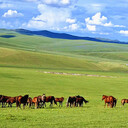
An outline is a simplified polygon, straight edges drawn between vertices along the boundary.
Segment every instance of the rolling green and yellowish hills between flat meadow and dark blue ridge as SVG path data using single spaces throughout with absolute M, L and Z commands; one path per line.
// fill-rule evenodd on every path
M 57 39 L 22 31 L 26 33 L 0 30 L 0 66 L 128 71 L 127 44 Z

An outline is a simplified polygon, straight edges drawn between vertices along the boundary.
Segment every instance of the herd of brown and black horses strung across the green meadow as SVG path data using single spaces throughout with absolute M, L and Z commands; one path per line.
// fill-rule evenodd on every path
M 117 99 L 113 96 L 102 96 L 102 100 L 104 100 L 105 105 L 104 107 L 116 107 Z M 62 107 L 62 103 L 64 101 L 64 97 L 55 98 L 54 96 L 46 96 L 45 94 L 34 97 L 33 99 L 29 97 L 29 95 L 24 96 L 16 96 L 16 97 L 10 97 L 5 95 L 0 95 L 0 104 L 2 104 L 2 107 L 6 107 L 8 104 L 8 107 L 12 107 L 13 103 L 16 103 L 16 107 L 21 108 L 21 104 L 23 104 L 23 109 L 26 105 L 29 105 L 29 107 L 35 107 L 36 108 L 44 108 L 46 107 L 46 103 L 50 103 L 50 107 L 53 106 L 53 103 L 57 105 L 57 102 L 59 103 L 59 107 Z M 81 107 L 83 106 L 83 103 L 88 103 L 89 101 L 85 100 L 82 96 L 69 96 L 66 101 L 67 107 Z M 128 99 L 122 99 L 121 104 L 124 105 L 125 103 L 128 103 Z

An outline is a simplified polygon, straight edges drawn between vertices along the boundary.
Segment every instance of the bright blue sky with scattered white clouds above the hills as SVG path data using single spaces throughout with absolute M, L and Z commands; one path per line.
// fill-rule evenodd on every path
M 0 28 L 128 42 L 128 0 L 0 0 Z

